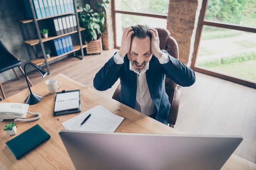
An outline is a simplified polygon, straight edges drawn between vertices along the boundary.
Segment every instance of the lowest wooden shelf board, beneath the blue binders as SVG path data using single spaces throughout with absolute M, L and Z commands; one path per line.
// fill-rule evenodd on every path
M 88 45 L 83 44 L 83 49 L 86 48 L 87 46 Z M 79 50 L 81 50 L 81 46 L 79 44 L 73 45 L 73 50 L 72 51 L 69 51 L 67 53 L 64 53 L 64 54 L 61 54 L 61 55 L 58 55 L 58 56 L 51 56 L 51 57 L 47 58 L 47 62 L 50 62 L 50 61 L 55 60 L 59 57 L 62 57 L 64 55 L 67 55 L 67 54 L 70 54 L 70 53 L 73 53 L 73 52 L 79 51 Z M 40 66 L 40 65 L 45 63 L 45 58 L 36 58 L 34 60 L 30 60 L 29 62 L 31 62 L 33 64 L 36 64 L 36 66 Z

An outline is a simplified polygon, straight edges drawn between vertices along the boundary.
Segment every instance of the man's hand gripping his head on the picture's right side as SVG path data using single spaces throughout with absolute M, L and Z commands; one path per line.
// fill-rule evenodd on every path
M 151 45 L 150 45 L 151 53 L 153 53 L 153 55 L 155 55 L 155 57 L 157 57 L 157 59 L 159 60 L 161 58 L 163 52 L 161 51 L 161 49 L 159 47 L 160 41 L 159 41 L 158 32 L 156 29 L 153 29 L 153 28 L 150 28 L 149 32 L 152 35 Z

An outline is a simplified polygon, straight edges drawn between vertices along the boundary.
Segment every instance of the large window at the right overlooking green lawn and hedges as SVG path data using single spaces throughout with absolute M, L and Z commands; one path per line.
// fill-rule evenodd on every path
M 203 2 L 192 68 L 256 88 L 256 1 Z

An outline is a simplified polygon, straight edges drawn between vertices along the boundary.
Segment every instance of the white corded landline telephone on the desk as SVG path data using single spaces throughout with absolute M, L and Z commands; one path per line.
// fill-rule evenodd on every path
M 28 111 L 29 104 L 23 103 L 0 103 L 0 121 L 4 119 L 14 119 L 14 121 L 35 121 L 41 117 L 40 113 L 31 113 Z M 27 113 L 38 115 L 33 119 L 25 119 Z

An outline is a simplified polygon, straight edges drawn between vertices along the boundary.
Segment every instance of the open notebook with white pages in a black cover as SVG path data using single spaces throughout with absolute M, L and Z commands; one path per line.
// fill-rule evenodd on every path
M 54 116 L 81 111 L 80 90 L 56 93 Z

